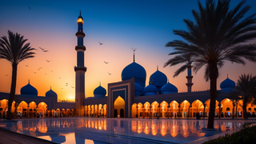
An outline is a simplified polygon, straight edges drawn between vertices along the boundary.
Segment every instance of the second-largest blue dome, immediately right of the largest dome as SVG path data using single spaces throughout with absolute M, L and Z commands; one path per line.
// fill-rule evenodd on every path
M 164 86 L 167 82 L 166 74 L 163 74 L 161 71 L 157 70 L 150 76 L 150 85 L 154 86 Z

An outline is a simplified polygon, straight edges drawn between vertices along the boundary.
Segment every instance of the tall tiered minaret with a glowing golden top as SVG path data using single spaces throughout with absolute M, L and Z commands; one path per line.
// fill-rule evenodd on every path
M 86 46 L 83 46 L 83 38 L 86 34 L 82 31 L 83 19 L 80 15 L 78 17 L 78 32 L 75 34 L 78 37 L 78 46 L 75 46 L 77 51 L 77 66 L 74 66 L 75 71 L 75 116 L 83 116 L 83 100 L 85 99 L 85 73 L 84 66 L 84 51 Z

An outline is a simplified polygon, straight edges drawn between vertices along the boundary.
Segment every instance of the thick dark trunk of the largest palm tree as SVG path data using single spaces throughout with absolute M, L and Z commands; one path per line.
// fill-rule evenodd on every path
M 214 128 L 214 112 L 216 106 L 217 97 L 217 78 L 218 78 L 218 67 L 214 62 L 209 63 L 210 70 L 210 112 L 208 118 L 207 129 Z

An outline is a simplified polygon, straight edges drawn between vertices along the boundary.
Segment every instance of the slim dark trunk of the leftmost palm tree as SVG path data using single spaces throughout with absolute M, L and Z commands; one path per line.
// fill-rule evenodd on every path
M 11 106 L 14 101 L 15 96 L 15 90 L 16 90 L 16 81 L 17 81 L 17 65 L 16 63 L 13 63 L 13 71 L 12 71 L 12 77 L 11 77 L 11 86 L 10 86 L 10 96 L 8 101 L 8 111 L 7 111 L 7 120 L 11 120 Z

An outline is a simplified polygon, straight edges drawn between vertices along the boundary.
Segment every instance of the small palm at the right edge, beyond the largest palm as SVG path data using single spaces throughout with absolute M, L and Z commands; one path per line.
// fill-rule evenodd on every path
M 242 110 L 245 119 L 248 119 L 246 106 L 247 103 L 254 102 L 256 95 L 256 76 L 252 77 L 250 74 L 242 74 L 235 86 L 234 90 L 230 93 L 230 98 L 237 101 L 242 99 Z

